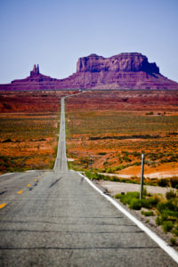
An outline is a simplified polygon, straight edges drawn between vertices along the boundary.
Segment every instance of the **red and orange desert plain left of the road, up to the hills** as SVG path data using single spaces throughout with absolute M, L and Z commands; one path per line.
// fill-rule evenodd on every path
M 64 94 L 0 93 L 0 173 L 53 167 Z

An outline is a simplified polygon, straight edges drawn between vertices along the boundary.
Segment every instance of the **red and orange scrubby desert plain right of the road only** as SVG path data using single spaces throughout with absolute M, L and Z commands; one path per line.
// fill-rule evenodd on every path
M 178 93 L 95 91 L 69 98 L 68 157 L 76 169 L 167 177 L 178 171 Z

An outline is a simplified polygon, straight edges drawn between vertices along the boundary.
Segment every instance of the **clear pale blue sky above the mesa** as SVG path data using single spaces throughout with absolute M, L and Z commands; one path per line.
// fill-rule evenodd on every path
M 138 52 L 178 82 L 178 0 L 0 0 L 0 84 L 76 72 L 79 57 Z

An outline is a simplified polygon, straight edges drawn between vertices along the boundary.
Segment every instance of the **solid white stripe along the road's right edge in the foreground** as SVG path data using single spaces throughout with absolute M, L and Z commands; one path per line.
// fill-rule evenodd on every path
M 125 210 L 125 208 L 123 206 L 120 206 L 116 200 L 114 200 L 113 198 L 105 195 L 99 188 L 97 188 L 93 182 L 91 182 L 87 177 L 85 177 L 85 175 L 80 174 L 79 172 L 77 172 L 80 176 L 85 178 L 85 181 L 88 182 L 93 189 L 97 190 L 101 196 L 103 196 L 104 198 L 107 198 L 114 206 L 117 207 L 118 210 L 120 210 L 123 214 L 125 214 L 132 222 L 134 222 L 142 231 L 144 231 L 149 237 L 150 239 L 153 239 L 159 247 L 161 247 L 162 249 L 164 249 L 166 251 L 166 254 L 170 255 L 174 261 L 176 263 L 178 263 L 178 253 L 176 252 L 176 250 L 174 250 L 173 247 L 170 247 L 166 241 L 164 241 L 163 239 L 159 238 L 158 235 L 156 233 L 154 233 L 153 231 L 151 231 L 147 226 L 145 226 L 143 223 L 141 223 L 139 220 L 137 220 L 132 214 L 130 214 L 129 212 L 127 212 Z

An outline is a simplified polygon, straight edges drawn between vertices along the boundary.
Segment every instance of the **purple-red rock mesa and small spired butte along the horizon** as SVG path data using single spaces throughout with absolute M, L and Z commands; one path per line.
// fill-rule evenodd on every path
M 1 91 L 62 89 L 178 90 L 178 83 L 161 75 L 157 64 L 142 53 L 120 53 L 109 58 L 97 54 L 79 58 L 77 72 L 64 79 L 44 76 L 34 65 L 29 77 L 0 85 Z

